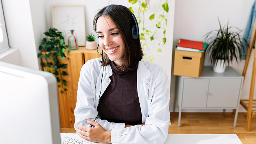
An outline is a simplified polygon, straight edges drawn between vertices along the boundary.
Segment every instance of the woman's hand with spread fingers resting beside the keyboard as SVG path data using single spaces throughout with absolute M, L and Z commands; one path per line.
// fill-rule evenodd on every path
M 87 123 L 95 126 L 94 128 L 88 128 L 81 125 L 77 125 L 76 130 L 79 132 L 79 136 L 85 140 L 99 143 L 111 143 L 111 131 L 106 131 L 99 123 L 94 121 L 86 121 Z

